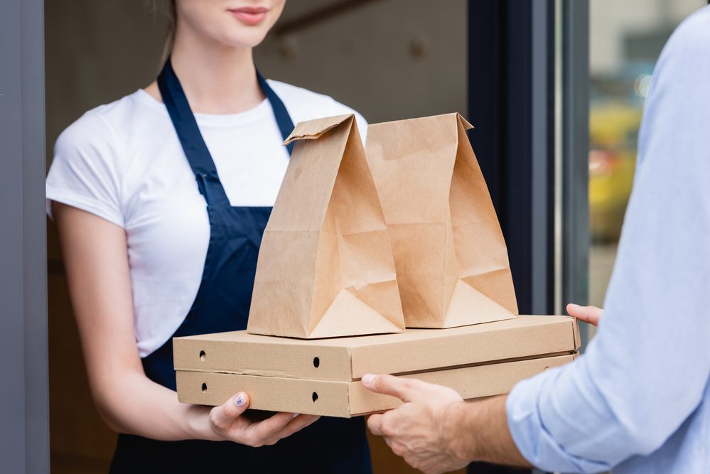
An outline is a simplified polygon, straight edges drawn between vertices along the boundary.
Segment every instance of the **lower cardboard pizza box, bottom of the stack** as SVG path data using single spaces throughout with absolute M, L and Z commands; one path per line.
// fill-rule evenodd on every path
M 574 360 L 575 355 L 503 362 L 422 372 L 404 377 L 444 384 L 464 399 L 504 394 L 522 379 Z M 401 402 L 369 392 L 362 383 L 258 377 L 217 372 L 177 372 L 178 399 L 183 403 L 220 405 L 236 392 L 249 394 L 249 408 L 322 416 L 349 417 L 392 409 Z

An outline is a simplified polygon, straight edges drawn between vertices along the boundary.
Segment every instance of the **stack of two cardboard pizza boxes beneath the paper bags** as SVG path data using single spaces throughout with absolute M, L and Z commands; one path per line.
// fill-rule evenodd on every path
M 579 333 L 573 318 L 520 316 L 319 340 L 236 331 L 176 338 L 173 347 L 181 402 L 219 405 L 244 391 L 252 409 L 349 417 L 401 403 L 365 389 L 367 373 L 443 384 L 464 399 L 490 397 L 574 360 Z

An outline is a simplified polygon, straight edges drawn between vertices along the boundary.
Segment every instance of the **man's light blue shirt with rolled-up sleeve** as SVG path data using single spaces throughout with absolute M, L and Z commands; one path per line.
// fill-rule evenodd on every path
M 512 437 L 549 471 L 710 473 L 710 7 L 652 78 L 598 333 L 517 384 Z

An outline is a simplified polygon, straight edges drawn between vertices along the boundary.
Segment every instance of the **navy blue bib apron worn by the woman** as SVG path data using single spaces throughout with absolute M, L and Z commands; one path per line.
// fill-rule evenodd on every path
M 294 129 L 284 103 L 261 75 L 281 135 Z M 195 116 L 168 59 L 158 76 L 163 102 L 195 173 L 210 218 L 210 244 L 200 289 L 173 337 L 247 327 L 257 253 L 270 207 L 230 205 Z M 289 149 L 290 153 L 291 149 Z M 144 357 L 146 375 L 175 389 L 173 344 Z M 370 451 L 362 418 L 322 418 L 274 446 L 250 448 L 230 441 L 155 441 L 119 435 L 111 473 L 370 473 Z

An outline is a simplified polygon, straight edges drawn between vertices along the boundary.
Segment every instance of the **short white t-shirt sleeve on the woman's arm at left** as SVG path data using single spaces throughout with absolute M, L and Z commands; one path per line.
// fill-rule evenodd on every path
M 87 112 L 63 131 L 46 181 L 50 217 L 57 201 L 124 227 L 116 145 L 97 112 Z

